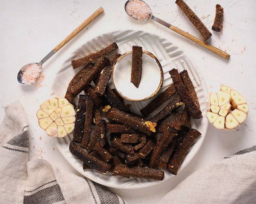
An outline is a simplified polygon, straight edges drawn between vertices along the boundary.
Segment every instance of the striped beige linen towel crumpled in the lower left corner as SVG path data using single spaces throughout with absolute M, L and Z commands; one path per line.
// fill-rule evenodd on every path
M 125 204 L 107 187 L 46 160 L 27 162 L 29 131 L 23 107 L 14 102 L 5 112 L 0 125 L 0 204 Z

